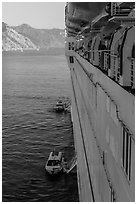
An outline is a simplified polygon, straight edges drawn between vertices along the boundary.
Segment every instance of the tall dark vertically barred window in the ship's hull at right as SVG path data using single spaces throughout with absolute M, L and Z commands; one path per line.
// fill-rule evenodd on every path
M 131 148 L 132 138 L 128 129 L 123 126 L 123 152 L 122 152 L 122 167 L 128 180 L 131 180 Z

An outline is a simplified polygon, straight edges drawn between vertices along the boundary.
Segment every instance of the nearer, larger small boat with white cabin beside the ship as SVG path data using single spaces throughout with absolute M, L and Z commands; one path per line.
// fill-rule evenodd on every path
M 56 175 L 64 169 L 64 157 L 62 152 L 53 151 L 45 165 L 46 171 L 51 175 Z

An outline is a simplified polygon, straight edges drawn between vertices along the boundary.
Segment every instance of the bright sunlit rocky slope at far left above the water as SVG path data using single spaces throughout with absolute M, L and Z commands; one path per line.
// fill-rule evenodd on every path
M 19 34 L 12 27 L 2 23 L 2 50 L 38 50 L 38 47 L 28 37 Z

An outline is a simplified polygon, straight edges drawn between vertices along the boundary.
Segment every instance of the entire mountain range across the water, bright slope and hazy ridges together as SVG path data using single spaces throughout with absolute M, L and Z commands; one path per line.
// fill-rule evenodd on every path
M 2 50 L 39 50 L 64 48 L 63 29 L 36 29 L 27 24 L 11 27 L 2 23 Z

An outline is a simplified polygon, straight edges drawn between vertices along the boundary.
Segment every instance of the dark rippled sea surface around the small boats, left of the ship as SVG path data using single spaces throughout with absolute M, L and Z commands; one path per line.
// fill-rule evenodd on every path
M 65 56 L 3 55 L 2 201 L 78 201 L 76 173 L 50 178 L 44 165 L 54 148 L 74 155 L 70 113 L 53 111 L 69 101 Z

